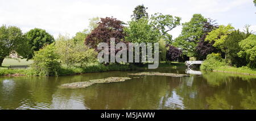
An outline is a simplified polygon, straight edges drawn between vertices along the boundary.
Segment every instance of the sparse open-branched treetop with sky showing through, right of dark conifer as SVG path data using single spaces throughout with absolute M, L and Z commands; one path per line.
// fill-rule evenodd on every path
M 161 36 L 171 43 L 172 36 L 168 34 L 169 31 L 177 26 L 180 26 L 180 17 L 172 15 L 163 15 L 161 13 L 156 13 L 151 16 L 151 24 L 156 30 L 159 30 Z

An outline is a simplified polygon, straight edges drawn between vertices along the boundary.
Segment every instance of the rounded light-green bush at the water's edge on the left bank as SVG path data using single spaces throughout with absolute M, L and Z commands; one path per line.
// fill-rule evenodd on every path
M 35 52 L 32 69 L 36 76 L 58 76 L 60 68 L 59 54 L 56 53 L 54 44 L 46 45 L 40 51 Z

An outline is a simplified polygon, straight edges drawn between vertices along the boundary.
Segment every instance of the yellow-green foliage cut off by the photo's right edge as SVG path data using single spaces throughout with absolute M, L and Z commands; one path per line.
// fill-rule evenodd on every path
M 245 57 L 250 68 L 256 68 L 256 35 L 250 35 L 240 41 L 239 46 L 241 51 L 238 56 Z

